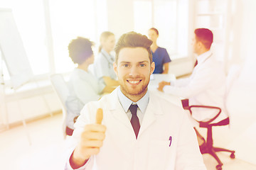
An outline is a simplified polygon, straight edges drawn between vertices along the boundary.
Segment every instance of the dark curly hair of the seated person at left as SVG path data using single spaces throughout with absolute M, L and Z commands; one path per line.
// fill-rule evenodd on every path
M 68 45 L 68 52 L 71 60 L 76 64 L 82 64 L 93 55 L 92 45 L 94 42 L 90 41 L 87 38 L 78 37 L 74 40 L 71 40 Z

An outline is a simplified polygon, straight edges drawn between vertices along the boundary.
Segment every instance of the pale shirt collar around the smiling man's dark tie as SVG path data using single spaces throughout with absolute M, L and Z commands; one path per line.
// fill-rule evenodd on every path
M 137 104 L 137 106 L 139 107 L 139 110 L 142 111 L 142 113 L 145 113 L 146 107 L 149 103 L 149 91 L 146 91 L 146 94 L 141 99 L 139 99 L 139 101 L 137 101 L 136 103 L 131 101 L 129 98 L 127 98 L 127 96 L 124 96 L 124 94 L 120 90 L 120 86 L 117 89 L 117 96 L 119 98 L 119 102 L 122 105 L 122 108 L 126 113 L 129 109 L 129 106 L 131 106 L 131 104 Z

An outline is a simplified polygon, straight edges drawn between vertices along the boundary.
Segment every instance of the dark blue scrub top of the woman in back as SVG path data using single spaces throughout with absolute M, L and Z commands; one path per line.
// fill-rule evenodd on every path
M 152 51 L 151 51 L 152 52 Z M 164 63 L 171 62 L 168 52 L 165 48 L 158 47 L 155 52 L 152 52 L 153 62 L 155 63 L 155 70 L 153 74 L 161 74 L 164 72 Z

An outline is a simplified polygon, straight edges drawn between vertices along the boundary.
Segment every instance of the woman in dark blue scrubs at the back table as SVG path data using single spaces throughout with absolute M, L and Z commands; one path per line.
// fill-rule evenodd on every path
M 158 37 L 159 31 L 156 30 L 156 28 L 150 28 L 149 39 L 153 41 L 150 48 L 153 55 L 153 62 L 156 65 L 156 69 L 154 70 L 153 74 L 168 74 L 169 62 L 171 62 L 171 59 L 166 49 L 163 47 L 159 47 L 156 44 L 156 40 Z

